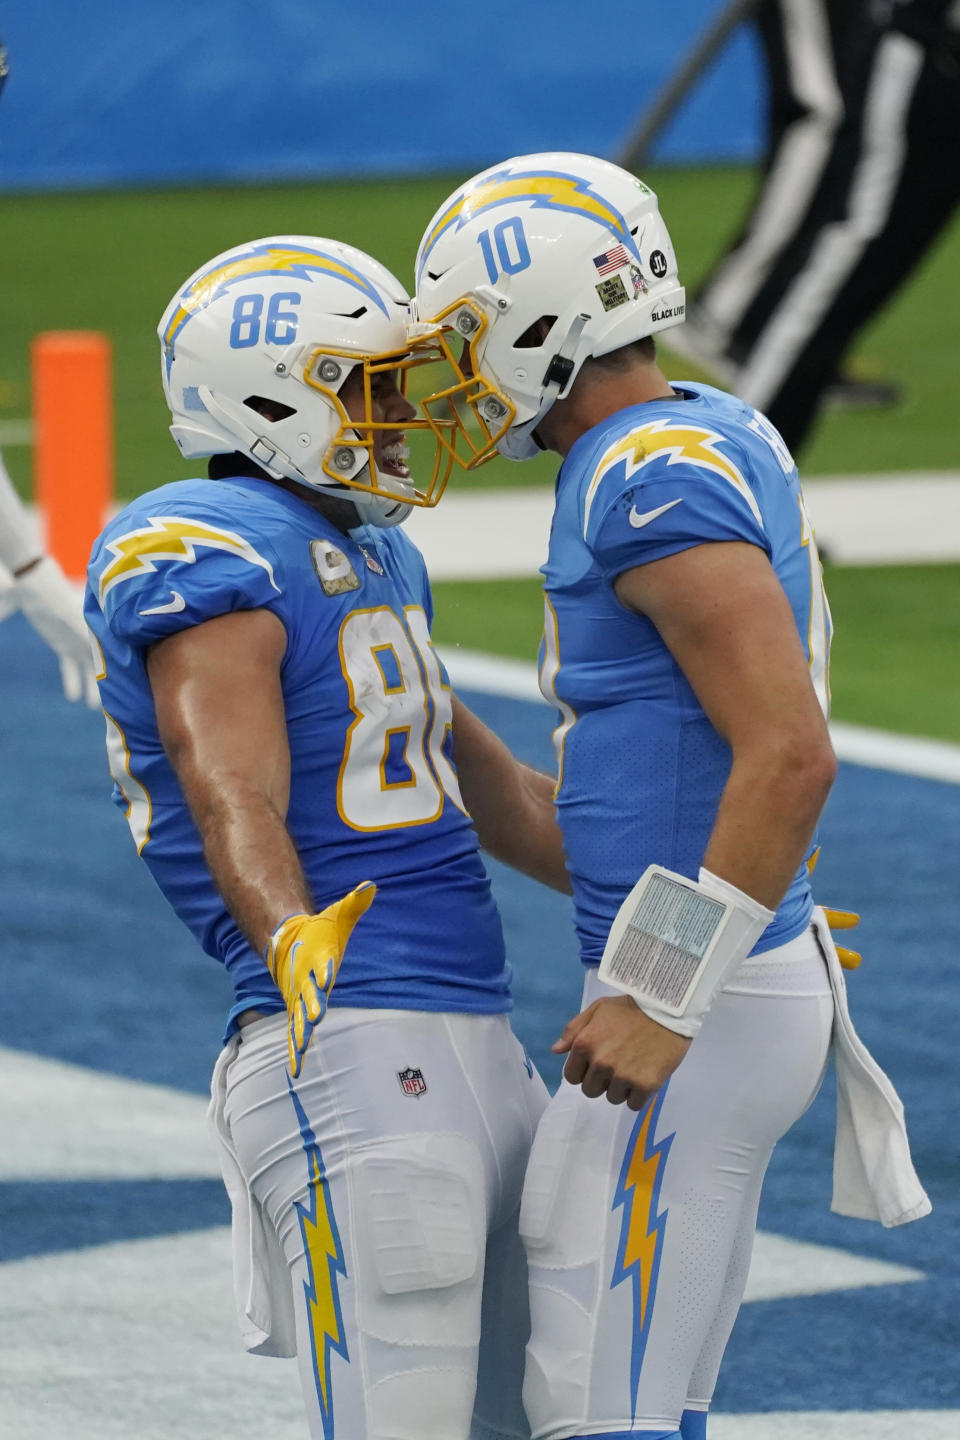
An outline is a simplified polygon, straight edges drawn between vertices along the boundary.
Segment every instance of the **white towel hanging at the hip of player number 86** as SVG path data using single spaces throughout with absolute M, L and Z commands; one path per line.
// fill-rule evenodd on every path
M 285 1015 L 282 1020 L 286 1024 Z M 256 1355 L 289 1358 L 296 1355 L 289 1270 L 273 1225 L 250 1194 L 225 1116 L 227 1070 L 239 1048 L 240 1035 L 236 1034 L 220 1051 L 213 1067 L 207 1110 L 233 1214 L 233 1293 L 243 1348 Z

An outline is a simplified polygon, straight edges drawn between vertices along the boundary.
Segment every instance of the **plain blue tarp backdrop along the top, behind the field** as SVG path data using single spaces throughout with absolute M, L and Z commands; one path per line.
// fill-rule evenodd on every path
M 269 181 L 615 157 L 724 0 L 13 0 L 0 189 Z M 753 158 L 741 29 L 659 161 Z

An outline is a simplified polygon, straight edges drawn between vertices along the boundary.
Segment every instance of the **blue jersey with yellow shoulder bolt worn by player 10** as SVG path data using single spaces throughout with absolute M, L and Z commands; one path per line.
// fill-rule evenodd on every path
M 760 546 L 783 586 L 828 710 L 830 613 L 796 465 L 748 405 L 705 384 L 620 410 L 581 435 L 557 478 L 540 684 L 558 707 L 557 808 L 581 956 L 649 864 L 695 878 L 731 765 L 656 628 L 613 593 L 625 570 L 717 540 Z M 757 950 L 799 935 L 802 867 Z

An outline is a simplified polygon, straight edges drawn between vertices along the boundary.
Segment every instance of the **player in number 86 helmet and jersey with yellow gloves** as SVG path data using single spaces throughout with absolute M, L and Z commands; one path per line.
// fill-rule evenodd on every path
M 545 1092 L 478 834 L 567 878 L 551 780 L 430 642 L 402 521 L 449 467 L 423 488 L 407 467 L 407 320 L 335 240 L 203 265 L 160 340 L 209 478 L 127 505 L 86 593 L 117 804 L 233 982 L 212 1116 L 243 1339 L 298 1355 L 324 1440 L 528 1433 L 518 1205 Z

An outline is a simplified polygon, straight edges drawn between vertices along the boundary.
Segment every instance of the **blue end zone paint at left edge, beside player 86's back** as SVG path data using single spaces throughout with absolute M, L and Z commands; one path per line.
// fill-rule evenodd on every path
M 109 798 L 104 717 L 63 700 L 19 615 L 0 625 L 0 1044 L 204 1093 L 226 976 L 137 858 Z

